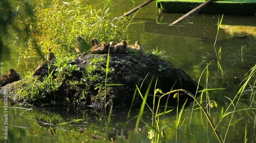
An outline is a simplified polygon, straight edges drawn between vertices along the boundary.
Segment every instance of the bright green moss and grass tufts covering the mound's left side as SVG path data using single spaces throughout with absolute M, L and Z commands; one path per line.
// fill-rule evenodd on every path
M 24 86 L 16 94 L 18 101 L 24 101 L 25 103 L 33 103 L 34 101 L 50 102 L 51 99 L 55 99 L 56 95 L 59 95 L 58 92 L 62 88 L 67 89 L 70 95 L 66 98 L 59 98 L 62 98 L 63 101 L 66 100 L 68 103 L 71 100 L 70 98 L 80 104 L 80 102 L 86 102 L 89 95 L 104 93 L 106 59 L 103 56 L 91 59 L 85 70 L 79 70 L 76 65 L 71 65 L 68 61 L 70 61 L 70 58 L 57 58 L 54 63 L 55 70 L 41 80 L 27 76 L 26 82 L 22 83 Z M 81 72 L 82 75 L 80 75 Z M 79 79 L 77 80 L 77 78 Z M 111 80 L 111 78 L 108 78 L 108 80 Z

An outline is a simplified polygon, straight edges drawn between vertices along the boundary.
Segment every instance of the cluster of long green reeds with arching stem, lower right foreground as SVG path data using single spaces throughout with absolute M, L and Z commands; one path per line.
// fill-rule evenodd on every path
M 207 72 L 207 78 L 208 78 L 208 68 L 205 68 L 205 70 Z M 181 94 L 179 95 L 179 92 L 185 92 L 187 95 L 189 95 L 190 97 L 194 98 L 195 103 L 194 106 L 197 108 L 193 108 L 191 109 L 191 111 L 193 113 L 191 113 L 191 117 L 190 117 L 190 122 L 188 126 L 191 125 L 192 120 L 195 122 L 197 122 L 198 120 L 200 120 L 200 118 L 195 119 L 195 113 L 196 110 L 201 110 L 201 124 L 202 127 L 205 129 L 205 132 L 207 132 L 208 142 L 214 141 L 214 134 L 215 136 L 218 138 L 218 142 L 226 142 L 228 141 L 227 138 L 229 138 L 230 136 L 230 127 L 237 127 L 238 123 L 243 123 L 244 119 L 250 119 L 252 122 L 255 122 L 255 85 L 256 85 L 256 80 L 255 80 L 255 73 L 256 73 L 256 65 L 247 73 L 245 80 L 243 81 L 243 85 L 241 87 L 241 89 L 238 91 L 236 97 L 234 97 L 233 99 L 230 99 L 228 97 L 226 97 L 227 99 L 229 99 L 231 102 L 228 104 L 228 106 L 225 107 L 221 107 L 221 111 L 218 112 L 218 116 L 219 116 L 219 120 L 212 116 L 211 113 L 211 108 L 217 107 L 217 103 L 214 100 L 210 100 L 210 96 L 209 96 L 209 92 L 210 91 L 216 91 L 216 90 L 223 90 L 223 89 L 204 89 L 201 94 L 201 100 L 198 100 L 197 98 L 195 98 L 194 95 L 192 95 L 191 93 L 182 90 L 182 89 L 178 89 L 178 90 L 172 90 L 168 93 L 163 94 L 161 92 L 161 90 L 156 89 L 154 97 L 156 97 L 156 93 L 161 93 L 161 97 L 163 96 L 169 96 L 170 93 L 176 93 L 174 95 L 174 98 L 178 98 L 179 100 L 179 96 L 182 96 Z M 207 81 L 206 81 L 207 82 Z M 251 83 L 252 82 L 252 83 Z M 151 84 L 150 84 L 151 85 Z M 249 89 L 248 89 L 249 88 Z M 149 110 L 152 112 L 153 116 L 152 116 L 152 124 L 148 125 L 147 123 L 145 123 L 146 127 L 148 128 L 148 130 L 150 130 L 148 132 L 148 139 L 151 139 L 152 142 L 168 142 L 167 139 L 169 138 L 175 138 L 176 137 L 176 142 L 179 141 L 178 139 L 178 135 L 186 135 L 185 132 L 183 132 L 182 130 L 185 128 L 185 126 L 187 125 L 187 121 L 186 118 L 188 118 L 188 114 L 184 112 L 184 105 L 181 109 L 177 109 L 177 115 L 176 115 L 176 120 L 174 123 L 174 126 L 170 126 L 169 123 L 166 123 L 167 125 L 161 125 L 161 123 L 163 123 L 162 119 L 159 118 L 163 115 L 165 115 L 166 113 L 173 111 L 173 109 L 167 110 L 166 111 L 166 107 L 165 109 L 160 112 L 159 110 L 159 104 L 156 106 L 156 108 L 154 108 L 154 103 L 153 103 L 153 107 L 150 107 L 147 105 L 147 103 L 145 102 L 146 98 L 147 98 L 147 94 L 145 94 L 145 96 L 143 97 L 142 94 L 140 93 L 140 90 L 137 88 L 137 90 L 139 92 L 140 97 L 143 100 L 143 103 L 141 105 L 141 109 L 139 111 L 139 114 L 137 116 L 137 122 L 136 122 L 136 128 L 138 127 L 139 122 L 142 120 L 142 115 L 144 114 L 144 108 L 145 106 L 147 106 L 149 108 Z M 205 94 L 206 93 L 206 94 Z M 245 96 L 245 94 L 248 95 L 249 93 L 249 100 L 245 100 L 248 101 L 249 104 L 245 104 L 243 103 L 241 97 Z M 205 101 L 203 100 L 203 96 L 206 95 L 206 103 L 204 103 Z M 159 100 L 161 100 L 161 97 L 159 98 Z M 154 98 L 155 99 L 155 98 Z M 155 100 L 154 100 L 155 102 Z M 159 103 L 159 102 L 158 102 Z M 241 106 L 242 105 L 242 106 Z M 206 106 L 206 107 L 205 107 Z M 239 107 L 240 106 L 240 107 Z M 178 107 L 177 107 L 178 108 Z M 155 110 L 156 109 L 156 110 Z M 189 110 L 189 109 L 188 109 Z M 243 117 L 241 116 L 241 112 L 245 111 L 247 114 L 243 115 Z M 198 113 L 198 111 L 196 112 Z M 185 117 L 184 117 L 185 116 Z M 199 116 L 200 117 L 200 116 Z M 218 118 L 218 117 L 217 117 Z M 208 121 L 207 123 L 205 123 L 204 121 Z M 143 121 L 143 120 L 142 120 Z M 206 125 L 205 125 L 206 124 Z M 208 125 L 210 125 L 212 132 L 208 131 Z M 244 141 L 246 142 L 246 140 L 248 140 L 248 136 L 249 136 L 249 132 L 252 128 L 248 128 L 249 125 L 245 125 L 245 131 L 242 131 L 242 134 L 244 135 Z M 189 127 L 190 128 L 190 127 Z M 175 134 L 172 134 L 170 132 L 166 132 L 167 130 L 173 130 L 175 132 Z M 254 129 L 253 129 L 254 130 Z M 221 131 L 222 132 L 222 136 L 221 134 L 219 134 L 217 131 Z M 194 131 L 191 131 L 194 132 Z M 166 133 L 168 133 L 168 136 L 166 136 Z M 168 137 L 168 138 L 167 138 Z M 191 139 L 197 139 L 197 138 L 191 138 Z M 252 141 L 252 140 L 250 140 Z

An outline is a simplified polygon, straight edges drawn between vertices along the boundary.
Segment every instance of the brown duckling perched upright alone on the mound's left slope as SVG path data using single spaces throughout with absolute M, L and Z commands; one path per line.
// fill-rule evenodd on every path
M 49 53 L 47 54 L 47 60 L 43 61 L 42 63 L 40 63 L 38 65 L 38 67 L 35 69 L 35 72 L 32 76 L 36 76 L 36 75 L 44 76 L 44 75 L 51 73 L 55 67 L 54 61 L 55 61 L 54 53 L 51 52 L 51 49 L 49 48 Z

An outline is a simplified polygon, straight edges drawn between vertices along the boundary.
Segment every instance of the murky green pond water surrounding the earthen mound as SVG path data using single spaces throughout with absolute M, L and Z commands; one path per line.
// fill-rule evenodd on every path
M 49 1 L 50 2 L 50 1 Z M 49 3 L 47 2 L 47 3 Z M 100 9 L 104 1 L 84 1 Z M 129 11 L 144 1 L 118 1 L 110 3 L 110 17 L 119 17 L 124 12 Z M 133 15 L 132 15 L 133 16 Z M 151 52 L 158 47 L 158 50 L 166 51 L 165 60 L 172 62 L 176 67 L 183 69 L 191 78 L 197 82 L 203 70 L 208 66 L 208 79 L 206 72 L 202 74 L 200 84 L 208 89 L 225 89 L 209 91 L 210 100 L 215 100 L 217 107 L 208 109 L 215 124 L 219 123 L 221 109 L 225 109 L 230 104 L 230 99 L 236 96 L 239 84 L 244 75 L 256 63 L 256 17 L 255 16 L 234 16 L 224 15 L 222 25 L 215 44 L 218 30 L 218 19 L 221 15 L 195 14 L 185 19 L 177 26 L 166 27 L 167 24 L 178 19 L 182 14 L 158 13 L 155 2 L 142 8 L 134 17 L 129 26 L 129 40 L 131 43 L 136 40 L 144 47 L 145 52 Z M 240 33 L 236 33 L 239 31 Z M 8 47 L 2 49 L 0 53 L 0 69 L 2 73 L 7 73 L 12 67 L 16 67 L 19 61 L 18 42 L 11 41 L 12 33 L 5 35 L 3 40 Z M 221 70 L 218 69 L 219 49 L 221 48 Z M 220 60 L 220 59 L 219 59 Z M 26 60 L 25 60 L 26 61 Z M 36 63 L 36 62 L 35 62 Z M 40 62 L 37 62 L 39 64 Z M 17 71 L 24 75 L 28 71 L 33 71 L 36 65 L 19 63 Z M 254 76 L 255 78 L 255 76 Z M 206 80 L 208 80 L 206 82 Z M 249 99 L 246 95 L 244 99 Z M 206 97 L 203 96 L 203 101 Z M 237 110 L 243 108 L 247 102 L 241 102 Z M 0 140 L 3 142 L 103 142 L 100 136 L 96 136 L 94 130 L 104 131 L 107 115 L 100 115 L 97 111 L 79 110 L 63 107 L 45 107 L 27 110 L 19 105 L 9 105 L 8 108 L 8 140 L 4 138 L 5 117 L 0 117 Z M 160 126 L 164 127 L 167 142 L 218 142 L 213 134 L 206 118 L 200 110 L 193 110 L 192 103 L 184 109 L 181 116 L 181 123 L 177 125 L 177 114 L 175 111 L 160 117 Z M 4 101 L 0 100 L 0 112 L 4 113 Z M 191 111 L 193 115 L 191 116 Z M 232 111 L 230 109 L 229 111 Z M 117 123 L 125 123 L 127 119 L 126 110 L 113 112 L 111 126 Z M 134 110 L 129 119 L 137 116 L 138 111 Z M 250 116 L 248 116 L 250 115 Z M 191 117 L 191 118 L 190 118 Z M 76 121 L 82 119 L 81 121 Z M 145 113 L 143 122 L 140 123 L 140 132 L 136 132 L 135 120 L 129 122 L 129 135 L 122 142 L 151 142 L 148 139 L 149 128 L 152 115 Z M 155 118 L 154 118 L 155 119 Z M 240 120 L 241 119 L 241 120 Z M 247 142 L 255 142 L 254 132 L 255 115 L 248 111 L 239 111 L 233 115 L 230 122 L 230 115 L 226 116 L 218 127 L 218 132 L 224 138 L 227 127 L 230 125 L 225 142 L 245 142 L 245 130 L 247 130 Z M 184 121 L 184 122 L 183 122 Z M 61 124 L 68 122 L 67 124 Z M 47 124 L 46 124 L 47 123 Z M 60 125 L 61 124 L 61 125 Z M 56 134 L 51 134 L 50 125 Z M 53 126 L 55 125 L 55 126 Z M 176 128 L 177 126 L 177 128 Z M 118 128 L 118 127 L 117 127 Z M 83 130 L 92 130 L 86 132 Z M 120 131 L 120 129 L 118 130 Z M 115 131 L 114 131 L 115 132 Z M 114 135 L 116 136 L 116 135 Z M 94 139 L 93 139 L 94 138 Z M 98 139 L 97 139 L 98 138 Z M 211 139 L 210 139 L 211 138 Z M 117 137 L 116 142 L 121 142 Z

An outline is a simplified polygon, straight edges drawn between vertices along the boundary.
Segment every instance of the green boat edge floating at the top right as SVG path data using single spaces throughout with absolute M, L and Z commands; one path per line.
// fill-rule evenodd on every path
M 157 0 L 157 8 L 167 13 L 187 13 L 206 1 L 202 0 Z M 196 13 L 205 14 L 256 14 L 256 1 L 212 1 Z

